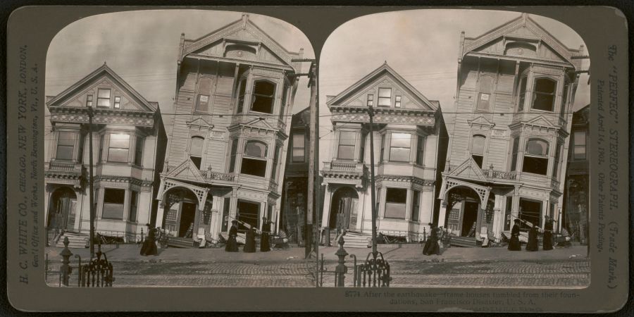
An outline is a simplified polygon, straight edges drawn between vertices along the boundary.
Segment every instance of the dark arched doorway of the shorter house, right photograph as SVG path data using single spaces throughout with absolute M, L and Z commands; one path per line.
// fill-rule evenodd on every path
M 359 194 L 352 187 L 341 187 L 332 194 L 329 228 L 354 230 L 358 222 Z

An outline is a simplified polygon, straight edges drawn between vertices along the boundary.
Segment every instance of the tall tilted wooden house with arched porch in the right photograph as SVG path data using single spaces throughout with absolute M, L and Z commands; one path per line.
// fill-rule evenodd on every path
M 581 54 L 527 14 L 478 37 L 462 32 L 440 226 L 475 245 L 516 218 L 522 230 L 560 221 Z

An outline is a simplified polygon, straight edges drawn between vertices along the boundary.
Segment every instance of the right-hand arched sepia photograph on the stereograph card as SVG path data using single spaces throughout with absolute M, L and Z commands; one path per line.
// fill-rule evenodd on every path
M 540 15 L 344 23 L 318 65 L 321 242 L 390 287 L 588 287 L 589 69 Z

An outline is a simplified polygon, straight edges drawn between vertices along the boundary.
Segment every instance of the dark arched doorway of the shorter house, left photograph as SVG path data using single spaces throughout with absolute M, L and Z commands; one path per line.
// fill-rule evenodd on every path
M 77 210 L 77 194 L 70 187 L 59 187 L 51 194 L 49 217 L 46 228 L 59 230 L 74 230 L 75 211 Z

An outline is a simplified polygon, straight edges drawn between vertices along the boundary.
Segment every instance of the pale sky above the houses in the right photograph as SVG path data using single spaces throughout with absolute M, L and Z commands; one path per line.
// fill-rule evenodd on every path
M 331 159 L 334 138 L 327 95 L 337 95 L 384 61 L 430 100 L 440 101 L 445 121 L 452 123 L 458 70 L 460 32 L 478 37 L 521 13 L 485 10 L 411 10 L 365 15 L 338 27 L 326 40 L 319 58 L 319 125 L 321 164 Z M 530 15 L 537 24 L 570 49 L 583 39 L 557 20 Z M 587 54 L 587 51 L 584 53 Z M 588 69 L 585 60 L 582 69 Z M 582 74 L 573 110 L 590 103 L 588 75 Z M 448 126 L 447 128 L 451 128 Z

